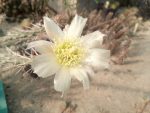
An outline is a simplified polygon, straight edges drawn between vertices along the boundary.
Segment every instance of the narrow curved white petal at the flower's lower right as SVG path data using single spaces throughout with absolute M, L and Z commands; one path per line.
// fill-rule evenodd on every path
M 83 67 L 72 68 L 71 75 L 83 83 L 84 89 L 89 89 L 90 83 L 86 70 Z

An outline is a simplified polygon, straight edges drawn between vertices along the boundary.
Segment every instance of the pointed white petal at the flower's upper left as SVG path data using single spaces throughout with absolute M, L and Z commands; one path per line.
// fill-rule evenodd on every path
M 64 37 L 64 33 L 60 29 L 60 27 L 48 17 L 44 17 L 44 27 L 49 38 L 53 41 L 59 40 L 61 39 L 61 37 Z

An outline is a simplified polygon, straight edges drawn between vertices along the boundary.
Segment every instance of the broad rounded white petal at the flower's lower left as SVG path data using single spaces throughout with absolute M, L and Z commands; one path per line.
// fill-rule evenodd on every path
M 34 70 L 34 73 L 42 78 L 55 74 L 60 68 L 52 54 L 36 56 L 33 59 L 31 66 Z

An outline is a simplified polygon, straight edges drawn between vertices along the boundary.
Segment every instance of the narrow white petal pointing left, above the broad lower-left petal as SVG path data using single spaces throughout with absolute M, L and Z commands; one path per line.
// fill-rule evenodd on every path
M 44 54 L 52 52 L 53 43 L 45 40 L 30 42 L 27 49 L 34 48 L 37 52 Z

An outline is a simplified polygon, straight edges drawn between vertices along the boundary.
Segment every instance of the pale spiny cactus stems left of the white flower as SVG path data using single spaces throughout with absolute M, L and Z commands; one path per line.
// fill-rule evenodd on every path
M 17 69 L 26 73 L 25 67 L 34 55 L 33 52 L 26 50 L 27 43 L 37 40 L 41 32 L 43 33 L 41 23 L 33 24 L 26 30 L 16 26 L 8 31 L 6 36 L 0 38 L 0 71 Z

